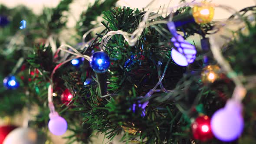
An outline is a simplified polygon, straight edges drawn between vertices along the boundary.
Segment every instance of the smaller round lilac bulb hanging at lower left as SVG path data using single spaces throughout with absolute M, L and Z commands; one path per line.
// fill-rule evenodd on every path
M 62 135 L 68 129 L 67 121 L 60 117 L 58 114 L 51 115 L 50 114 L 50 121 L 48 123 L 48 128 L 51 133 L 54 135 Z

